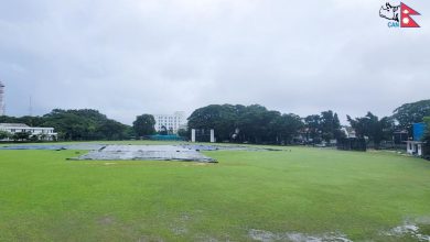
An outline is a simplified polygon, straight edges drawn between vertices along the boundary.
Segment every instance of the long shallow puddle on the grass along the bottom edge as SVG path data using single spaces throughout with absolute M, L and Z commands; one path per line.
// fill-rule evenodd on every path
M 261 242 L 291 241 L 291 242 L 352 242 L 343 233 L 305 234 L 299 232 L 273 233 L 265 230 L 251 229 L 248 232 L 250 239 Z

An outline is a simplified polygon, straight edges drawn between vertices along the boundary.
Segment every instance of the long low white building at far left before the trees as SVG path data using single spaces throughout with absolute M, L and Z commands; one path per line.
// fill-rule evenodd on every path
M 26 132 L 30 136 L 36 135 L 40 140 L 52 141 L 57 136 L 54 128 L 29 127 L 23 123 L 0 123 L 0 131 L 6 131 L 12 135 Z

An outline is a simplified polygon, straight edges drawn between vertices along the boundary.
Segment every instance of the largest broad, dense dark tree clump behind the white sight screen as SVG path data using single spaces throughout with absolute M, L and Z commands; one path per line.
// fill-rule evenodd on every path
M 259 105 L 211 105 L 196 109 L 189 129 L 215 130 L 217 141 L 289 143 L 303 125 L 295 114 L 281 114 Z

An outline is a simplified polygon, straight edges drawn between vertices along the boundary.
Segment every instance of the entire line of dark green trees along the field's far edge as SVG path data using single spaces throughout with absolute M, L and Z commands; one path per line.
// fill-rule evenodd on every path
M 405 130 L 411 135 L 411 125 L 417 122 L 428 122 L 430 129 L 430 118 L 426 117 L 430 117 L 430 100 L 402 105 L 390 117 L 379 119 L 367 112 L 364 117 L 347 116 L 347 121 L 357 138 L 368 138 L 378 145 L 391 140 L 395 131 Z M 320 143 L 345 136 L 337 113 L 332 110 L 301 118 L 260 105 L 211 105 L 196 109 L 187 121 L 189 130 L 180 130 L 180 135 L 190 138 L 191 129 L 214 129 L 218 142 L 291 144 L 300 134 Z M 3 116 L 0 123 L 52 127 L 58 133 L 58 140 L 64 141 L 129 140 L 155 133 L 155 120 L 151 114 L 138 116 L 132 125 L 126 125 L 93 109 L 54 109 L 42 117 Z M 4 133 L 0 133 L 0 140 L 2 136 Z M 430 130 L 426 139 L 430 140 Z

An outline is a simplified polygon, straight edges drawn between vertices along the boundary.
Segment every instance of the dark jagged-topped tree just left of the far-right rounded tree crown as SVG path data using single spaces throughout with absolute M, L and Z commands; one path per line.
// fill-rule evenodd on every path
M 367 112 L 365 117 L 356 118 L 355 120 L 347 116 L 347 120 L 357 136 L 368 136 L 374 142 L 376 148 L 379 147 L 380 141 L 391 140 L 395 124 L 389 117 L 384 117 L 379 120 L 372 112 Z

